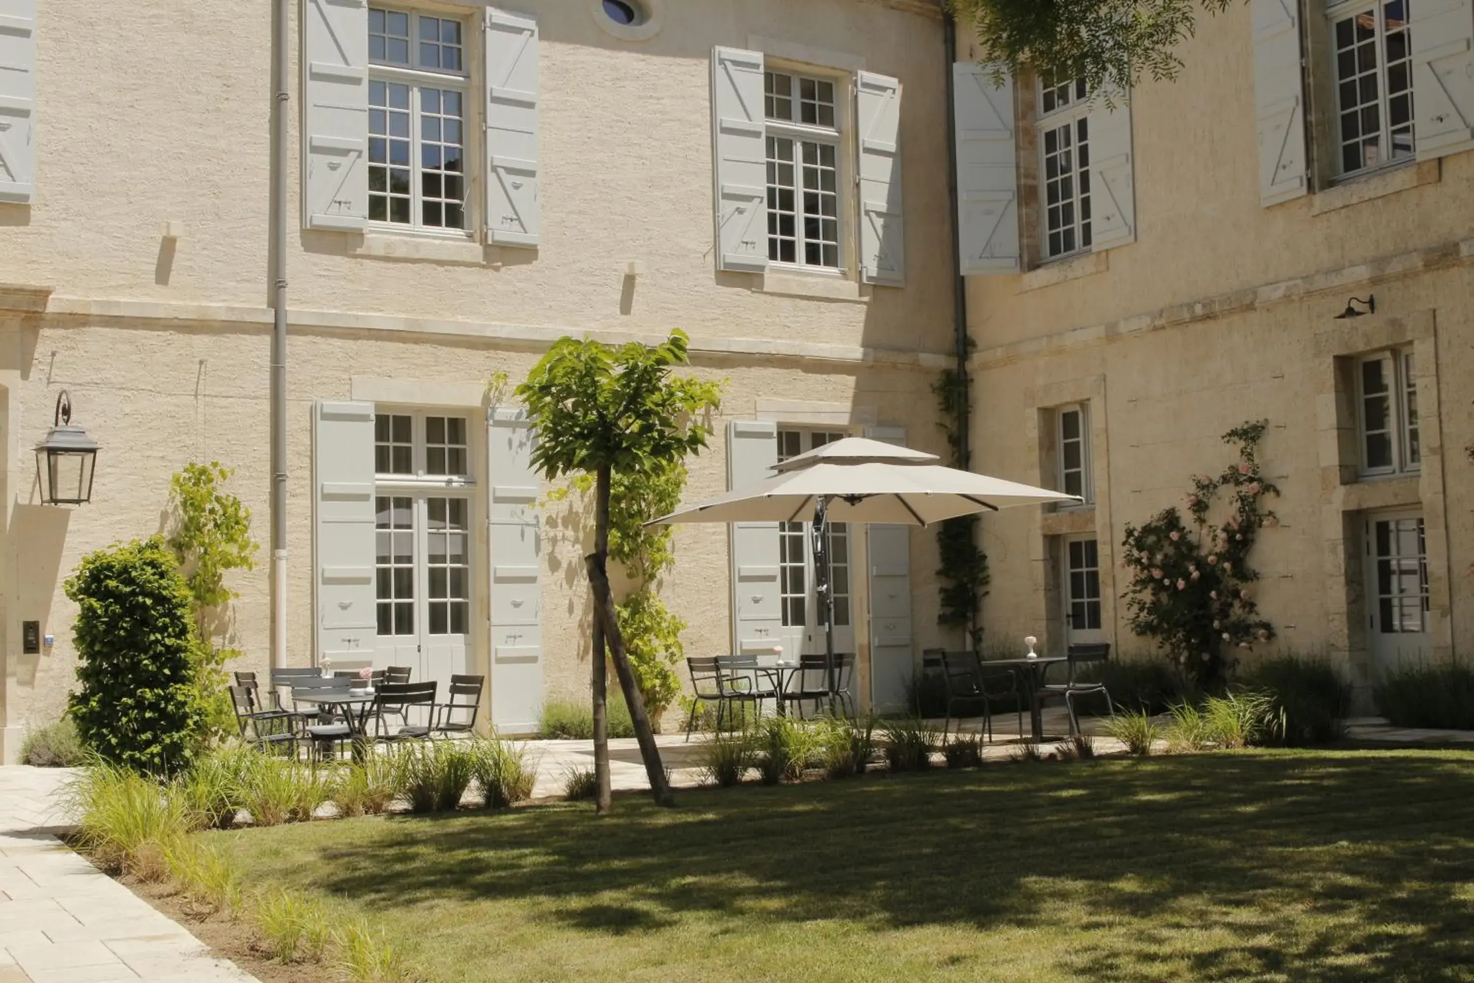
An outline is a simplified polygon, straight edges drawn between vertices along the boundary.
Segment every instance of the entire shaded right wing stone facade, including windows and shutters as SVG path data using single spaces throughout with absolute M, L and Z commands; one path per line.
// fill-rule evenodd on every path
M 1125 526 L 1262 419 L 1278 638 L 1246 654 L 1327 654 L 1363 706 L 1389 668 L 1470 656 L 1471 38 L 1467 3 L 1253 0 L 1114 109 L 960 66 L 974 461 L 1089 500 L 985 519 L 995 638 L 1145 651 Z

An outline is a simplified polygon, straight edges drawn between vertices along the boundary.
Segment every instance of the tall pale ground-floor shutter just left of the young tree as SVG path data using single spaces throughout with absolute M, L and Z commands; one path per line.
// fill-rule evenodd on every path
M 541 479 L 532 469 L 537 430 L 520 407 L 486 410 L 491 498 L 491 724 L 529 734 L 542 716 Z

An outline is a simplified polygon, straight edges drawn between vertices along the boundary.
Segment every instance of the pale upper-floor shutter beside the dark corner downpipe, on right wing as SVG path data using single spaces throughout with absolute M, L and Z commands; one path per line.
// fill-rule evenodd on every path
M 1014 83 L 976 62 L 952 65 L 957 224 L 964 274 L 1019 273 L 1019 140 Z

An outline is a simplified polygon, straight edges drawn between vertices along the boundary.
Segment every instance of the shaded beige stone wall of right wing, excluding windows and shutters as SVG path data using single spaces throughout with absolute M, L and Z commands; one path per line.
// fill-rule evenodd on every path
M 1269 648 L 1330 653 L 1366 685 L 1366 510 L 1422 510 L 1434 654 L 1468 657 L 1474 635 L 1474 153 L 1262 208 L 1248 13 L 1206 21 L 1181 80 L 1135 91 L 1135 243 L 968 280 L 977 466 L 1049 482 L 1042 411 L 1079 399 L 1095 444 L 1092 511 L 985 519 L 986 620 L 1014 647 L 1024 634 L 1063 644 L 1051 536 L 1094 531 L 1107 635 L 1148 651 L 1119 597 L 1125 525 L 1181 507 L 1191 475 L 1229 460 L 1219 435 L 1268 419 L 1281 523 L 1253 562 L 1281 632 Z M 1375 317 L 1334 320 L 1347 296 L 1372 292 Z M 1358 479 L 1346 360 L 1394 343 L 1415 351 L 1422 472 Z

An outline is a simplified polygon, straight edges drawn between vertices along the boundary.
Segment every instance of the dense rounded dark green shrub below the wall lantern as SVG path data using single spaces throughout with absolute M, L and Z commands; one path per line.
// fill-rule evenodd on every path
M 158 536 L 83 557 L 66 579 L 77 681 L 69 696 L 83 743 L 136 771 L 189 768 L 205 715 L 195 687 L 199 637 L 192 597 Z

